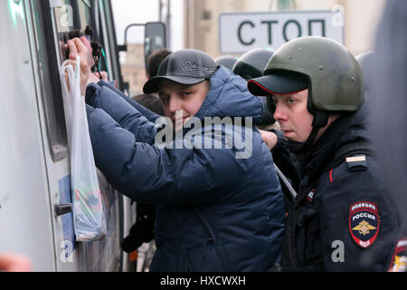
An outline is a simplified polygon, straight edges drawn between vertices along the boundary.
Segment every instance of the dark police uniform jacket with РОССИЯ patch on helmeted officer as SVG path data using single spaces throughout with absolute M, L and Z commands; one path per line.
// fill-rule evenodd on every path
M 299 157 L 301 182 L 289 207 L 283 270 L 388 269 L 398 222 L 377 173 L 365 114 L 364 104 L 342 115 Z

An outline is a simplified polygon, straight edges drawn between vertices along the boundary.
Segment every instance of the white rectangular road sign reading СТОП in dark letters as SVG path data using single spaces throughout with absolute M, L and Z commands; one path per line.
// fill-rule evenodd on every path
M 253 48 L 278 49 L 291 39 L 317 35 L 344 43 L 344 12 L 284 11 L 225 13 L 219 16 L 220 51 L 245 53 Z

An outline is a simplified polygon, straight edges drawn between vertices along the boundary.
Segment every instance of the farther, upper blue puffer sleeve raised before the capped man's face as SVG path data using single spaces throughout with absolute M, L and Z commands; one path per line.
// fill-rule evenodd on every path
M 93 108 L 106 111 L 125 130 L 132 132 L 138 142 L 153 144 L 156 137 L 156 126 L 117 92 L 108 86 L 100 87 L 90 83 L 86 90 L 86 103 Z

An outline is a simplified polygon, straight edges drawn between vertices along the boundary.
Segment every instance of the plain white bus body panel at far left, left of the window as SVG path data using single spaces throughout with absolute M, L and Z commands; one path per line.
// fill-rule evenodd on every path
M 0 37 L 0 252 L 24 254 L 35 271 L 52 271 L 51 206 L 22 3 L 0 1 Z

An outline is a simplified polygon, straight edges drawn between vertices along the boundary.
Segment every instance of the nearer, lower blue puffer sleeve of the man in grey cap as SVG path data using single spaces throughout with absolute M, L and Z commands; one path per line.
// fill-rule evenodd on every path
M 138 142 L 103 110 L 87 106 L 87 114 L 97 167 L 113 187 L 137 202 L 222 202 L 236 187 L 235 177 L 243 174 L 232 150 L 159 149 Z

